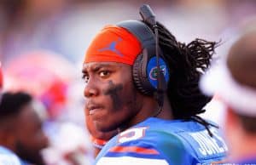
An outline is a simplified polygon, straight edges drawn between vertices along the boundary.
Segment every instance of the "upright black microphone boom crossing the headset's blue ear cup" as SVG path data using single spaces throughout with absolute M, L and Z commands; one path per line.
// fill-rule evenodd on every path
M 140 14 L 143 21 L 153 26 L 155 34 L 155 55 L 156 55 L 156 67 L 157 67 L 157 90 L 156 90 L 156 100 L 160 108 L 164 104 L 164 92 L 166 91 L 166 81 L 163 72 L 160 69 L 160 55 L 159 55 L 159 38 L 158 38 L 158 28 L 156 25 L 155 14 L 152 9 L 147 4 L 143 4 L 140 8 Z

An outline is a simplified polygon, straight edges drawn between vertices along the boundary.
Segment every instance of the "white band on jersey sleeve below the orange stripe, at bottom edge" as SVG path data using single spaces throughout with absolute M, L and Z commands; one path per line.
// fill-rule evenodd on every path
M 164 159 L 148 159 L 148 158 L 138 158 L 131 156 L 123 157 L 102 157 L 96 165 L 148 165 L 148 164 L 157 164 L 157 165 L 168 165 L 168 162 Z

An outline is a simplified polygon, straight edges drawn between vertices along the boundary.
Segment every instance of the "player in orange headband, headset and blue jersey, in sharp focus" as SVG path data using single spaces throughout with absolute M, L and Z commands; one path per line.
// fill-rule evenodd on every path
M 227 147 L 218 128 L 198 116 L 211 100 L 201 94 L 198 83 L 217 43 L 202 39 L 179 43 L 143 9 L 142 21 L 104 27 L 84 57 L 85 114 L 99 131 L 120 131 L 95 163 L 221 161 Z

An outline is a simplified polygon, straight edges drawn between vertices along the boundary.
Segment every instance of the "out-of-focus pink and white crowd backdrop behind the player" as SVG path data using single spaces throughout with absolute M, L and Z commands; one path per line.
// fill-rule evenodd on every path
M 24 90 L 41 101 L 49 147 L 47 164 L 90 164 L 82 83 L 84 50 L 109 22 L 138 19 L 139 1 L 0 0 L 0 61 L 4 91 Z M 253 0 L 147 1 L 178 39 L 228 42 L 236 28 L 254 19 Z M 222 49 L 218 55 L 224 54 Z M 215 102 L 214 102 L 215 101 Z M 220 107 L 218 99 L 213 108 Z M 221 122 L 219 111 L 211 111 Z M 219 108 L 221 109 L 221 107 Z M 216 116 L 216 117 L 215 117 Z M 28 137 L 27 137 L 28 138 Z

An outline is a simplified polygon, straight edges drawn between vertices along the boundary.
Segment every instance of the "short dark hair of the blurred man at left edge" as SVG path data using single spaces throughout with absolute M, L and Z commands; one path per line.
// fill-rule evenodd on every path
M 0 121 L 18 115 L 22 107 L 32 101 L 32 96 L 24 92 L 5 92 L 0 102 Z

